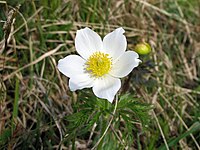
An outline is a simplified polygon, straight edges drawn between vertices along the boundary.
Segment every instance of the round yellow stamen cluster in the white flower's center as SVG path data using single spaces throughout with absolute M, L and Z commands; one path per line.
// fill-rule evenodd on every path
M 108 54 L 95 52 L 86 62 L 86 70 L 94 77 L 102 77 L 107 74 L 112 66 L 111 58 Z

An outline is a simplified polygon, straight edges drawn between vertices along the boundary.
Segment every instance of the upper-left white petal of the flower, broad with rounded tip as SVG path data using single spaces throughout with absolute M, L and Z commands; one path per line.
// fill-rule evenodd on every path
M 102 50 L 101 37 L 89 28 L 78 30 L 75 38 L 76 51 L 85 59 L 92 53 Z

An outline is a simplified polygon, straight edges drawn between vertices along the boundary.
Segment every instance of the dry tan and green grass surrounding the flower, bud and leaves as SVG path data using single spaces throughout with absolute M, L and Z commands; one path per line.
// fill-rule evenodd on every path
M 66 116 L 91 91 L 70 92 L 56 68 L 76 53 L 74 37 L 84 27 L 102 37 L 123 27 L 128 49 L 141 42 L 152 47 L 120 91 L 153 105 L 149 125 L 133 124 L 131 143 L 115 149 L 200 149 L 199 0 L 7 0 L 0 1 L 0 20 L 0 149 L 90 149 L 96 143 L 100 133 L 92 128 L 67 139 Z M 99 149 L 126 141 L 122 130 L 109 131 L 115 136 L 109 141 L 106 135 Z

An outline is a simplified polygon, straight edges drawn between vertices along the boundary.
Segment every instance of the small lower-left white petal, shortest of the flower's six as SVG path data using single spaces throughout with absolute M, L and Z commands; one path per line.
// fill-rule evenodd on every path
M 69 79 L 69 88 L 71 91 L 81 90 L 83 88 L 90 88 L 94 84 L 94 79 L 90 78 L 87 73 L 78 74 Z

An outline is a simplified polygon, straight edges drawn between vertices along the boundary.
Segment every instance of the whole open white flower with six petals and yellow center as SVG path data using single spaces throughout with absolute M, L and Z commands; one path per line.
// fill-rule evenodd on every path
M 119 78 L 128 75 L 139 62 L 138 54 L 126 51 L 123 28 L 101 37 L 89 28 L 77 31 L 75 47 L 80 54 L 58 61 L 58 69 L 69 77 L 71 91 L 90 88 L 94 94 L 112 103 L 121 87 Z M 126 52 L 125 52 L 126 51 Z

